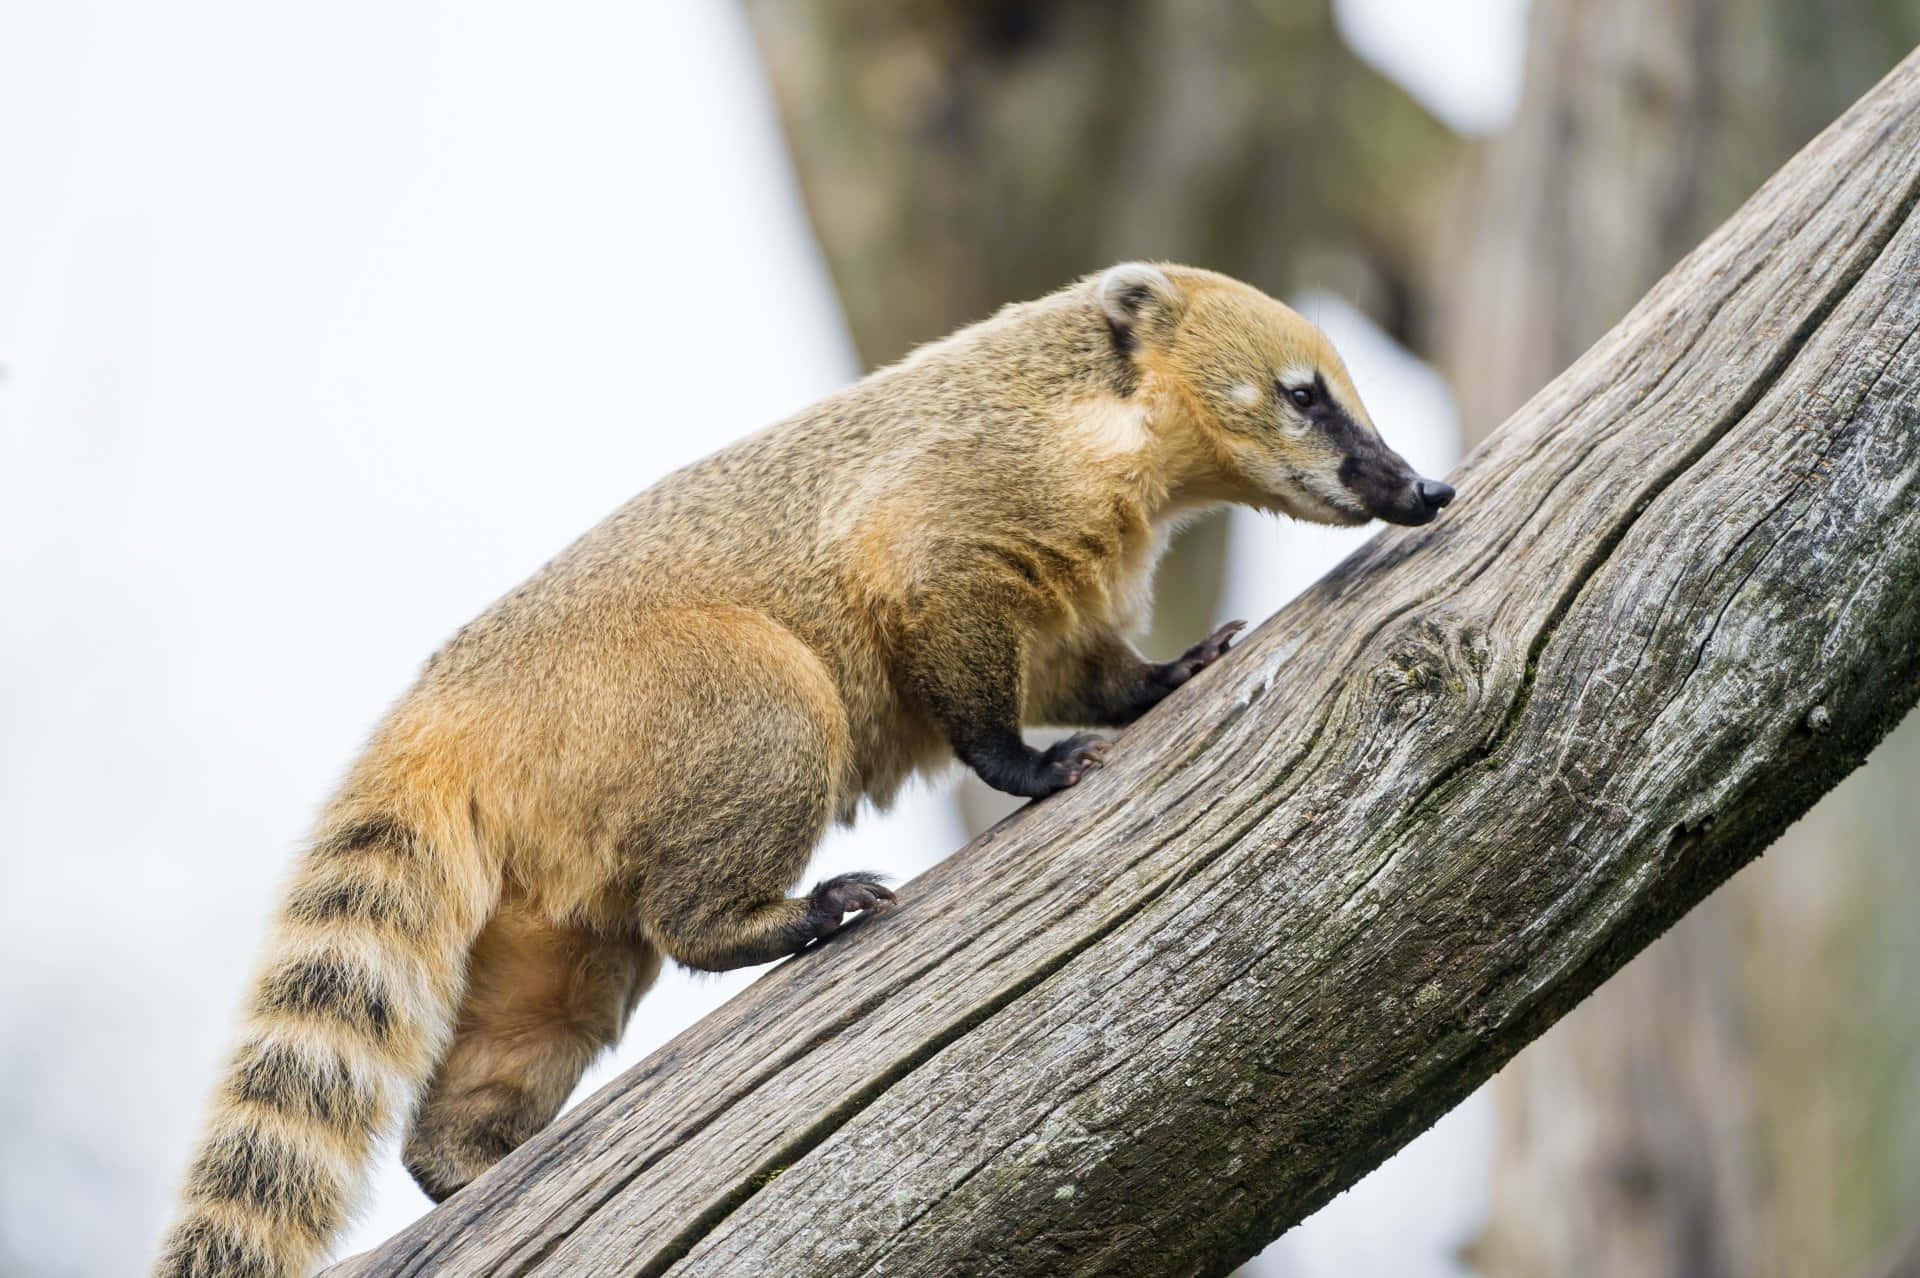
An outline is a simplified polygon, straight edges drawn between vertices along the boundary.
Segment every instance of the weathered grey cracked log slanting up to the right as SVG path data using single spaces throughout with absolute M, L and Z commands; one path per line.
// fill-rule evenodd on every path
M 336 1272 L 1250 1257 L 1920 695 L 1916 198 L 1920 56 L 1482 445 L 1446 518 Z

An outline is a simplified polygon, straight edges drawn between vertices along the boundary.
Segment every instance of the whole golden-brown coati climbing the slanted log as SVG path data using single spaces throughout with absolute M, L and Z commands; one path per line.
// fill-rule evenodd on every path
M 324 808 L 159 1274 L 300 1274 L 363 1165 L 436 1199 L 540 1130 L 662 958 L 764 963 L 885 906 L 787 896 L 829 821 L 956 754 L 1043 796 L 1227 651 L 1144 620 L 1219 503 L 1425 524 L 1306 319 L 1123 263 L 925 345 L 632 499 L 461 629 Z

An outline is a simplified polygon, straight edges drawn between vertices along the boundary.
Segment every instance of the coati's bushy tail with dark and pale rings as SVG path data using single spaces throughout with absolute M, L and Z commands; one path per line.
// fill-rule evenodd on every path
M 394 808 L 334 812 L 296 867 L 156 1278 L 313 1272 L 432 1077 L 499 875 L 470 821 Z

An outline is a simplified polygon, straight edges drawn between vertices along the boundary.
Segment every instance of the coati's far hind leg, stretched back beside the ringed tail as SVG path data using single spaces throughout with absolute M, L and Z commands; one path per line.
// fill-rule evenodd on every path
M 440 1201 L 543 1128 L 660 971 L 637 938 L 553 927 L 509 902 L 474 942 L 453 1046 L 401 1157 Z

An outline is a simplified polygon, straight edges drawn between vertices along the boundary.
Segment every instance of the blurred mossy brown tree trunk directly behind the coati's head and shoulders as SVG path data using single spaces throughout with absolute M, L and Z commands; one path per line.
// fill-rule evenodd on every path
M 747 0 L 860 359 L 1129 257 L 1327 288 L 1404 343 L 1461 140 L 1334 31 L 1327 0 Z M 1225 518 L 1162 564 L 1144 649 L 1219 599 Z M 1012 802 L 964 787 L 977 831 Z

